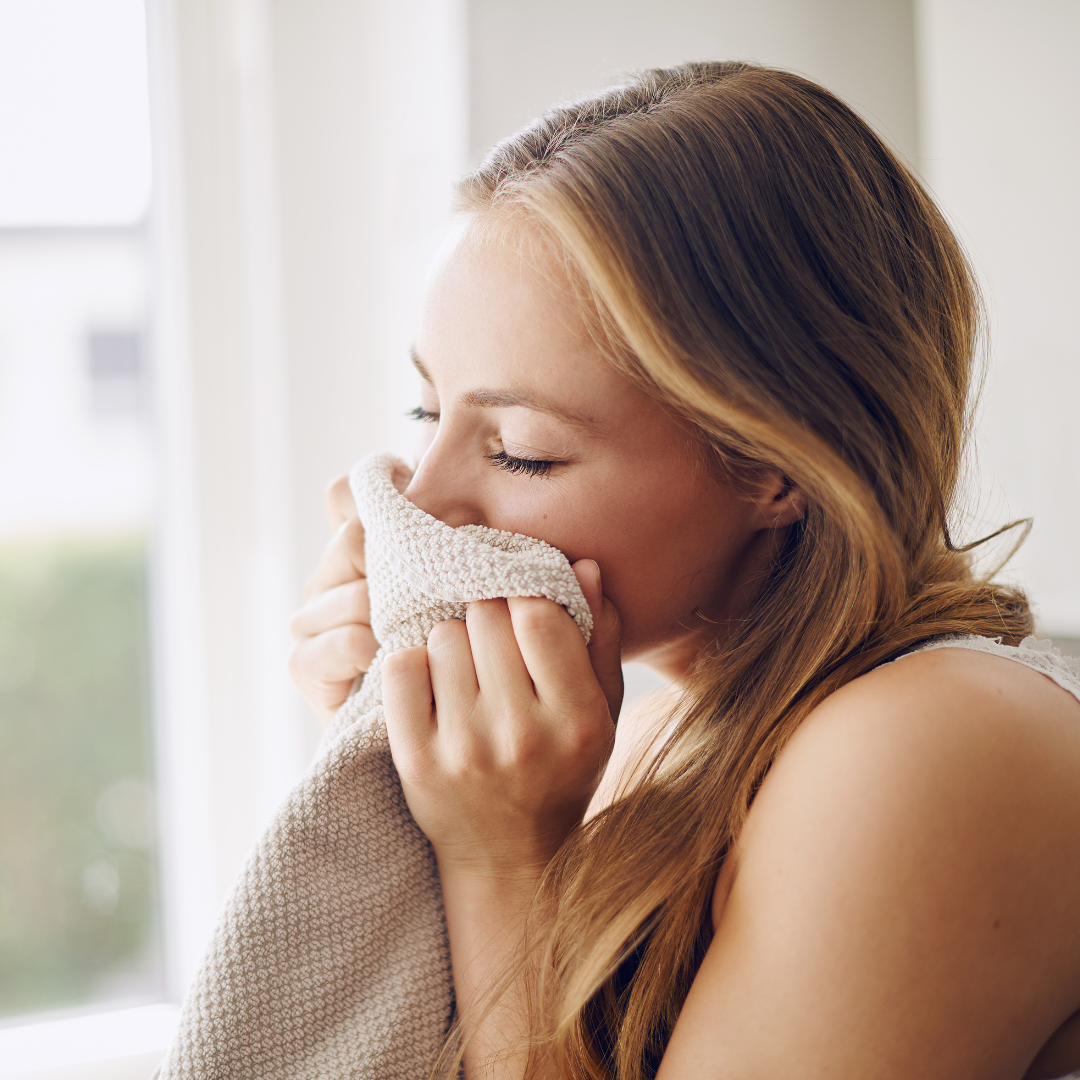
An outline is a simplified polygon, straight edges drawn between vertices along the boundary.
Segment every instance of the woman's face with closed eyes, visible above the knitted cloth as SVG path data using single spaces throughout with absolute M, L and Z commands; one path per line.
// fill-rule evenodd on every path
M 760 500 L 714 476 L 604 359 L 535 242 L 467 224 L 434 268 L 415 360 L 430 428 L 405 495 L 448 525 L 595 559 L 624 659 L 677 677 L 744 602 L 762 554 Z

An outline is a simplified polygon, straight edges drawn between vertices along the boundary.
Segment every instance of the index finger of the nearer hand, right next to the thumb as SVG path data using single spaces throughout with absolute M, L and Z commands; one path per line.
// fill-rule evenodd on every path
M 507 600 L 522 659 L 540 701 L 578 705 L 596 688 L 585 640 L 565 608 L 534 596 Z

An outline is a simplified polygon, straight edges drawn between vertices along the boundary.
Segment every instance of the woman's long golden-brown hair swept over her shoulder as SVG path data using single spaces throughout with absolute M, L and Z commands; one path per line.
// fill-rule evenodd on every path
M 645 71 L 495 147 L 459 205 L 563 253 L 625 375 L 726 468 L 808 500 L 697 660 L 645 778 L 558 851 L 528 929 L 529 1074 L 651 1076 L 762 777 L 826 696 L 918 642 L 1030 632 L 949 536 L 981 336 L 964 255 L 848 106 L 739 63 Z M 465 1032 L 468 1036 L 468 1032 Z

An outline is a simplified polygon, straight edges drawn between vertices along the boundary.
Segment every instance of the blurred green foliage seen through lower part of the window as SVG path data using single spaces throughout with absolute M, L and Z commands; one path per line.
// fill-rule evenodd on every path
M 146 550 L 0 546 L 0 1015 L 160 989 Z

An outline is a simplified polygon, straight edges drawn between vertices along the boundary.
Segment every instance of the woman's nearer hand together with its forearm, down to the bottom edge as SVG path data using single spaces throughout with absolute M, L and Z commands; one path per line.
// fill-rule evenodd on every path
M 519 955 L 544 866 L 581 821 L 622 703 L 619 616 L 599 568 L 573 567 L 593 613 L 586 649 L 551 600 L 470 604 L 428 645 L 387 658 L 382 703 L 409 810 L 438 860 L 465 1075 L 518 1077 L 528 1025 Z M 523 1056 L 524 1054 L 524 1056 Z

